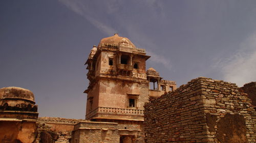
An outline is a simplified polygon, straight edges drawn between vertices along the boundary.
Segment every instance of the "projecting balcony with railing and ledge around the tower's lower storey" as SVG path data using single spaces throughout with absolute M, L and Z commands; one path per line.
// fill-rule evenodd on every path
M 108 116 L 101 116 L 108 115 Z M 117 119 L 142 119 L 144 116 L 144 110 L 142 109 L 129 109 L 129 108 L 112 108 L 112 107 L 97 107 L 86 115 L 86 119 L 98 117 L 121 117 Z M 136 118 L 137 117 L 137 118 Z M 139 117 L 139 118 L 138 118 Z

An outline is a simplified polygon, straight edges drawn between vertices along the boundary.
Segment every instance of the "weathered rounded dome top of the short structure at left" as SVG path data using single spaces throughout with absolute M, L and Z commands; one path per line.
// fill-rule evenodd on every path
M 0 99 L 3 98 L 15 98 L 25 99 L 34 102 L 34 94 L 27 89 L 18 87 L 8 87 L 0 89 Z

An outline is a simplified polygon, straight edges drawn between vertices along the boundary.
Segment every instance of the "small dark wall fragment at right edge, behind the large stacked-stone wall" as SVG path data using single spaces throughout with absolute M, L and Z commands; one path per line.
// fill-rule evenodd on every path
M 241 88 L 242 92 L 246 93 L 252 101 L 252 105 L 256 107 L 256 82 L 244 84 Z

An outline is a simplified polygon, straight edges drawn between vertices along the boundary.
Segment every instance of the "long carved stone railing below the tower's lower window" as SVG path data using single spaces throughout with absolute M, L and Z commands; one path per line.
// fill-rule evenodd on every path
M 144 116 L 144 110 L 130 108 L 112 108 L 112 107 L 97 107 L 86 115 L 86 119 L 91 119 L 96 113 L 108 113 L 110 115 L 137 115 Z

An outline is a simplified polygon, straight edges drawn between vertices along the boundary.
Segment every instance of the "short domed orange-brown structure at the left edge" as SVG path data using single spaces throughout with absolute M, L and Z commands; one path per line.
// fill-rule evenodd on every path
M 0 142 L 34 142 L 37 117 L 31 91 L 17 87 L 0 89 Z

